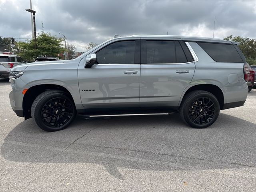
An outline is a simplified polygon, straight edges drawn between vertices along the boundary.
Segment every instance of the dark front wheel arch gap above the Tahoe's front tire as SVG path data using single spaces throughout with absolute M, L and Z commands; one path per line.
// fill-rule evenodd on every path
M 25 120 L 31 118 L 31 106 L 38 95 L 47 90 L 61 90 L 66 92 L 70 99 L 74 102 L 74 99 L 70 92 L 63 86 L 56 84 L 41 84 L 30 87 L 23 97 L 22 109 Z

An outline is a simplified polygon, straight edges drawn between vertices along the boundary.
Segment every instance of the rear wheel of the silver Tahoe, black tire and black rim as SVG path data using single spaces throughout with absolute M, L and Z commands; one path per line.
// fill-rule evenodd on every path
M 218 99 L 207 91 L 196 90 L 186 94 L 180 105 L 181 119 L 193 128 L 212 125 L 219 114 Z

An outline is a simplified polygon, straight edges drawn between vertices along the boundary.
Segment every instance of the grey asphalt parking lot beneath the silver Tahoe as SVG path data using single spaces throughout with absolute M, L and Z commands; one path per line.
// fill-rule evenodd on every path
M 256 89 L 209 128 L 178 114 L 77 117 L 45 132 L 14 114 L 0 78 L 0 191 L 256 191 Z

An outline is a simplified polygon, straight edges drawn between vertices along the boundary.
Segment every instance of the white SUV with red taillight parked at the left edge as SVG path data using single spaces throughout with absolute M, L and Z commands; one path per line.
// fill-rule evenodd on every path
M 10 69 L 20 64 L 24 64 L 20 56 L 0 54 L 0 77 L 9 77 Z

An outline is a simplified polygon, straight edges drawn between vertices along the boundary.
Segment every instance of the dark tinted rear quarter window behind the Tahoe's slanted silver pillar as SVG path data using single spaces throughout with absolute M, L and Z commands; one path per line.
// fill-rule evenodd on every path
M 216 62 L 243 63 L 233 44 L 197 43 Z

